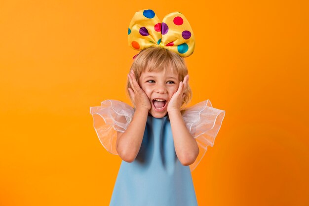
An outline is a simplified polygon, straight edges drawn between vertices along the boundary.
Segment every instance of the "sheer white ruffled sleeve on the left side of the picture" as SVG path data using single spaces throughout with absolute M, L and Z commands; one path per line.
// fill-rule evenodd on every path
M 101 106 L 90 107 L 93 126 L 103 147 L 114 155 L 116 151 L 117 131 L 124 132 L 130 124 L 134 109 L 121 101 L 105 100 Z

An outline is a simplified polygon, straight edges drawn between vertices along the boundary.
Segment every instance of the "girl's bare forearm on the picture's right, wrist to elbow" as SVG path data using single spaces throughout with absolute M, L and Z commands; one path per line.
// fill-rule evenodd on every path
M 171 122 L 176 155 L 182 165 L 191 165 L 199 153 L 196 140 L 186 127 L 180 111 L 174 110 L 169 112 L 168 115 Z

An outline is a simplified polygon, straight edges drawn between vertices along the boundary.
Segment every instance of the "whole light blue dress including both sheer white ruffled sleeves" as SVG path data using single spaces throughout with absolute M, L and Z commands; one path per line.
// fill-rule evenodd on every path
M 117 132 L 130 124 L 134 109 L 124 102 L 105 100 L 90 107 L 93 126 L 104 148 L 117 155 Z M 225 111 L 213 108 L 209 100 L 182 113 L 199 154 L 190 166 L 176 155 L 168 116 L 148 116 L 141 148 L 132 163 L 121 162 L 110 206 L 197 206 L 191 172 L 213 146 Z

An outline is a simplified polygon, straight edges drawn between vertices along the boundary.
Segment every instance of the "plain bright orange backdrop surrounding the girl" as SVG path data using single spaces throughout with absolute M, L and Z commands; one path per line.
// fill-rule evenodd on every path
M 89 107 L 131 104 L 127 30 L 141 9 L 187 17 L 190 105 L 226 111 L 192 173 L 199 206 L 308 206 L 306 0 L 1 0 L 0 206 L 109 204 L 121 160 Z

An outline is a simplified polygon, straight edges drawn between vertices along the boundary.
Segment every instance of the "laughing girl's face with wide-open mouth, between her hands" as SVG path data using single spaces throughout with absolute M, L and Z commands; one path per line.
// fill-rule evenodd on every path
M 167 105 L 179 87 L 178 74 L 167 69 L 161 72 L 142 72 L 138 83 L 147 94 L 151 103 L 149 113 L 162 118 L 167 113 Z

